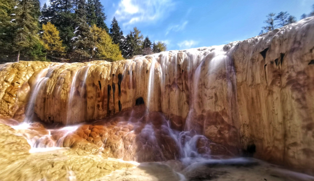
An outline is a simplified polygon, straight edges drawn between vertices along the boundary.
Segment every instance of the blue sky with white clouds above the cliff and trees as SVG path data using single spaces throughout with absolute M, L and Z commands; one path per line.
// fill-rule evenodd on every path
M 41 0 L 43 4 L 47 0 Z M 133 27 L 167 50 L 228 44 L 257 36 L 266 15 L 288 11 L 300 20 L 314 0 L 101 0 L 107 26 L 116 17 L 124 34 Z

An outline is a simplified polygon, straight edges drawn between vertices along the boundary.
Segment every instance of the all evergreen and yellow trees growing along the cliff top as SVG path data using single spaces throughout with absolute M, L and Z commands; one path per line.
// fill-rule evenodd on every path
M 301 19 L 314 16 L 303 14 Z M 288 12 L 269 13 L 260 34 L 296 22 Z M 105 24 L 100 0 L 0 0 L 0 62 L 115 61 L 166 51 L 134 27 L 124 35 L 116 18 Z

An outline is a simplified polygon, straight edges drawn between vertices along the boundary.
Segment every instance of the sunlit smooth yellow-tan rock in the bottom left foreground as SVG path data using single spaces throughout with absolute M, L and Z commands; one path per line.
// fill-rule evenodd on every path
M 17 130 L 0 124 L 1 181 L 87 181 L 135 165 L 79 149 L 30 154 L 26 139 Z

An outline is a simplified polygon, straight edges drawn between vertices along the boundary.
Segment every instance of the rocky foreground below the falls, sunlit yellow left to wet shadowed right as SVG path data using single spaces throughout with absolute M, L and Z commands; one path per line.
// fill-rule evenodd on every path
M 0 124 L 1 181 L 314 181 L 314 177 L 247 158 L 139 164 L 108 158 L 91 143 L 29 153 L 31 147 L 19 136 L 21 132 Z

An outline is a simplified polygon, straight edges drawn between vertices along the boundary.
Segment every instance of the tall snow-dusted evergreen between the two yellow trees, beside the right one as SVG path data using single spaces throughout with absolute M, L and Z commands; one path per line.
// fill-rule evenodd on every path
M 76 59 L 81 61 L 90 58 L 94 48 L 94 38 L 86 23 L 85 0 L 78 0 L 78 8 L 75 13 L 77 27 L 74 31 L 75 36 L 71 39 L 72 49 Z

